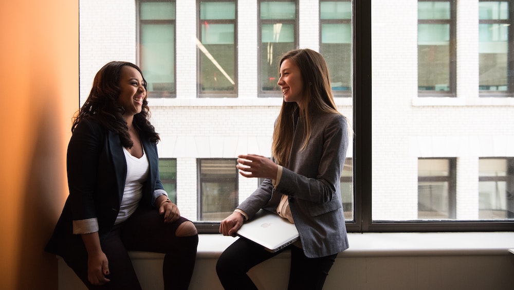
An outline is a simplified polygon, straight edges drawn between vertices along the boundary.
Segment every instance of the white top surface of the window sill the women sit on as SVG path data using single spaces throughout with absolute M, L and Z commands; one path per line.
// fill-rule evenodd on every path
M 238 238 L 200 234 L 197 257 L 217 257 Z M 502 256 L 514 254 L 514 232 L 348 233 L 350 248 L 338 258 L 402 256 Z M 132 259 L 162 259 L 164 255 L 131 252 Z M 288 258 L 286 251 L 277 258 Z

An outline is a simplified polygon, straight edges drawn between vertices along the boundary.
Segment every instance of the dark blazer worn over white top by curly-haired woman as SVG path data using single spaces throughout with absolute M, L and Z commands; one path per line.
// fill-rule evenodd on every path
M 157 146 L 144 135 L 141 143 L 150 168 L 139 206 L 152 207 L 154 191 L 164 189 L 159 178 Z M 73 221 L 97 218 L 100 240 L 116 221 L 127 173 L 118 134 L 95 120 L 80 121 L 68 144 L 67 173 L 69 195 L 45 248 L 65 260 L 85 250 L 80 235 L 73 233 Z

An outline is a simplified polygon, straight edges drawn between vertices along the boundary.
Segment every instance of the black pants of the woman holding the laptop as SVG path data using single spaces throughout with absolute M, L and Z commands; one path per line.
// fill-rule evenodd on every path
M 337 254 L 321 258 L 307 258 L 301 248 L 291 245 L 285 249 L 291 250 L 288 289 L 322 289 Z M 219 256 L 216 264 L 219 281 L 226 290 L 257 289 L 246 273 L 253 266 L 277 256 L 285 249 L 271 253 L 255 243 L 240 238 Z

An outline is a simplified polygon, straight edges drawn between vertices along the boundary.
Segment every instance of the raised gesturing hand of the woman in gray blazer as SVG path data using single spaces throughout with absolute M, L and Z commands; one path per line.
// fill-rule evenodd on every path
M 277 178 L 278 166 L 268 157 L 248 154 L 238 155 L 237 165 L 239 173 L 245 177 Z

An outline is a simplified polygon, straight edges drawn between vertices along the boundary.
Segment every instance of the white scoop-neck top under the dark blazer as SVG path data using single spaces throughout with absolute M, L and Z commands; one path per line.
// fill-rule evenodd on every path
M 121 200 L 120 212 L 115 224 L 126 221 L 136 210 L 143 195 L 143 183 L 146 181 L 150 166 L 144 149 L 141 158 L 132 156 L 124 147 L 123 153 L 127 163 L 127 176 L 125 178 L 125 189 Z

